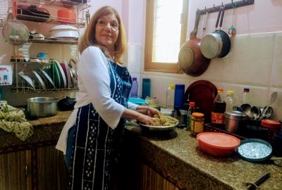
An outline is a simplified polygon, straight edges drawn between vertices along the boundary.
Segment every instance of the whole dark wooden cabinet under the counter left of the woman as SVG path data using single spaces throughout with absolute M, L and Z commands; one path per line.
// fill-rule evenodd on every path
M 68 189 L 68 169 L 55 146 L 0 154 L 0 189 Z

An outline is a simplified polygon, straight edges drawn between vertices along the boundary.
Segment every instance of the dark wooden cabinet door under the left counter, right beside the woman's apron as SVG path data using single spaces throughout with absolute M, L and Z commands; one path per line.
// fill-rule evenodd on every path
M 39 190 L 68 189 L 68 169 L 55 146 L 37 148 L 37 171 Z

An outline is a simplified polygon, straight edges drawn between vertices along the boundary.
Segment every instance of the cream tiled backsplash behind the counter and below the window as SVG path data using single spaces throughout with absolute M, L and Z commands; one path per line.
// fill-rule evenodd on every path
M 144 47 L 128 46 L 128 69 L 141 79 L 152 81 L 152 96 L 157 103 L 165 105 L 167 84 L 185 84 L 185 89 L 197 80 L 208 80 L 216 87 L 235 91 L 240 99 L 244 87 L 250 88 L 252 106 L 264 107 L 273 91 L 278 91 L 273 118 L 282 119 L 282 32 L 246 34 L 231 39 L 231 51 L 225 58 L 212 59 L 209 68 L 199 77 L 163 72 L 143 72 Z M 140 70 L 139 70 L 140 68 Z

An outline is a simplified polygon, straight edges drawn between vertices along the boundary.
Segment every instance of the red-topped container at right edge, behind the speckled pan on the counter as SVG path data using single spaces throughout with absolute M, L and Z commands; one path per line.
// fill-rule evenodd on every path
M 273 144 L 275 136 L 281 132 L 281 123 L 278 120 L 262 120 L 262 127 L 269 129 L 268 141 Z

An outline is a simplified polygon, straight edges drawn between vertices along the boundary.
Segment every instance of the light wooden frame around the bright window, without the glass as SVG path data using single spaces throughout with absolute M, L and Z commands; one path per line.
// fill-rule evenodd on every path
M 154 3 L 157 0 L 146 0 L 146 27 L 145 27 L 145 71 L 183 73 L 178 63 L 159 63 L 152 61 L 153 34 L 154 34 Z M 183 0 L 181 13 L 180 46 L 186 42 L 188 26 L 189 0 Z M 180 48 L 180 47 L 179 47 Z

